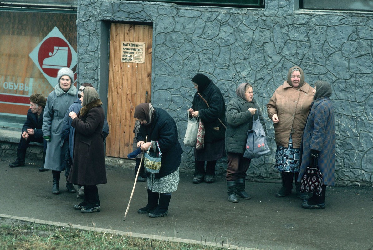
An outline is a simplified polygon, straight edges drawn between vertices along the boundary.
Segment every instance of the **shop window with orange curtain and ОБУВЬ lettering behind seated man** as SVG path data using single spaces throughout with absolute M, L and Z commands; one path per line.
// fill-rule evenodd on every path
M 76 12 L 0 11 L 0 126 L 7 122 L 23 124 L 30 95 L 47 96 L 57 84 L 57 80 L 54 84 L 46 79 L 30 56 L 55 27 L 76 51 Z M 52 48 L 45 53 L 52 57 L 55 52 Z

